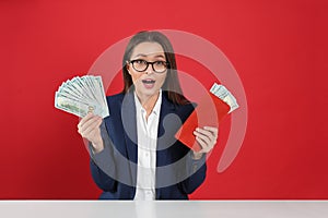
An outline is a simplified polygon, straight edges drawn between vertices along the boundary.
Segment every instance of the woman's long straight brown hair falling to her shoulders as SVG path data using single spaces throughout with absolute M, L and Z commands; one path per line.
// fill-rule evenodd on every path
M 133 84 L 132 77 L 127 69 L 127 61 L 130 60 L 131 55 L 136 46 L 141 43 L 157 43 L 162 46 L 166 61 L 168 62 L 167 75 L 163 84 L 163 90 L 167 92 L 168 99 L 176 105 L 186 105 L 189 100 L 183 95 L 180 83 L 177 76 L 177 65 L 175 60 L 175 53 L 168 38 L 160 32 L 139 32 L 129 41 L 124 58 L 122 58 L 122 76 L 125 87 L 122 93 L 128 93 Z

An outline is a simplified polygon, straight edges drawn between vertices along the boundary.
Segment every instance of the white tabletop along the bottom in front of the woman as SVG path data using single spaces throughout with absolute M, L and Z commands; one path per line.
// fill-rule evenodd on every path
M 0 217 L 326 218 L 327 201 L 0 201 Z

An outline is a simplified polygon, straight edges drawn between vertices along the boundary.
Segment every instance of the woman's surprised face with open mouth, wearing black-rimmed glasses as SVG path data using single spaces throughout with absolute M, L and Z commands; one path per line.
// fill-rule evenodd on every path
M 133 63 L 128 63 L 127 69 L 132 77 L 137 95 L 140 98 L 149 98 L 159 94 L 167 74 L 162 46 L 157 43 L 141 43 L 134 47 L 130 61 Z M 154 63 L 152 65 L 147 62 Z

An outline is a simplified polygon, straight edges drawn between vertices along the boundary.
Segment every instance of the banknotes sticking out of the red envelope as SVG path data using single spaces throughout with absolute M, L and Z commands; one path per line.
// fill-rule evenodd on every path
M 231 113 L 239 107 L 236 98 L 223 85 L 214 83 L 210 92 L 230 106 L 229 113 Z

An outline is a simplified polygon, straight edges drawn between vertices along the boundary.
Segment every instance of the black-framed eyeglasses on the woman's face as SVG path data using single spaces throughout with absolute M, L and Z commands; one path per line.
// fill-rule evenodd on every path
M 132 68 L 138 72 L 144 72 L 148 69 L 149 64 L 151 64 L 153 71 L 156 73 L 164 73 L 169 65 L 166 61 L 148 62 L 141 59 L 131 60 L 129 61 L 129 63 L 131 63 Z

